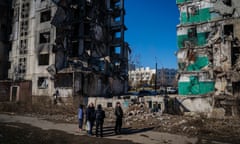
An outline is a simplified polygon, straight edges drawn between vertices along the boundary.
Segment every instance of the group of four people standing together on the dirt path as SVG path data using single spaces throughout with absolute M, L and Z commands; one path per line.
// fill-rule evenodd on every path
M 94 124 L 96 123 L 96 137 L 99 136 L 100 132 L 100 137 L 103 137 L 103 123 L 104 123 L 104 118 L 105 116 L 105 111 L 102 109 L 102 105 L 99 104 L 97 105 L 97 109 L 95 110 L 94 104 L 90 103 L 84 113 L 83 110 L 83 105 L 79 105 L 78 109 L 78 119 L 79 119 L 79 131 L 82 131 L 83 129 L 83 122 L 84 122 L 84 114 L 86 114 L 86 130 L 89 136 L 93 135 L 92 129 Z M 116 108 L 114 111 L 114 114 L 116 116 L 116 121 L 115 121 L 115 134 L 120 134 L 121 133 L 121 128 L 122 128 L 122 118 L 123 118 L 123 110 L 121 108 L 120 102 L 116 103 Z

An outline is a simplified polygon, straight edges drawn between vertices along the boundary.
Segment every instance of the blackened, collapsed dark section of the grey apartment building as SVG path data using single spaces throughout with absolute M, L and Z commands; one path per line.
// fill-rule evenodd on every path
M 53 2 L 58 6 L 51 21 L 57 31 L 56 72 L 70 67 L 84 75 L 75 75 L 74 95 L 125 92 L 129 47 L 124 42 L 124 1 Z M 109 9 L 109 14 L 103 12 Z

